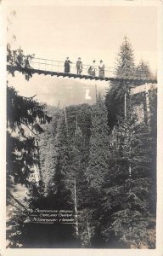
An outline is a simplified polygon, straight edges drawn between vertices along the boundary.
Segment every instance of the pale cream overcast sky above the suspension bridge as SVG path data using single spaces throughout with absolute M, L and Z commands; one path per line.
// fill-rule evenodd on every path
M 21 46 L 26 54 L 59 61 L 69 56 L 73 62 L 80 56 L 86 64 L 103 59 L 106 66 L 114 67 L 126 36 L 134 49 L 136 64 L 143 58 L 153 71 L 157 68 L 156 7 L 10 6 L 8 14 L 13 10 L 16 15 L 9 26 L 8 40 L 15 34 L 13 47 Z M 42 90 L 42 80 L 39 77 L 37 84 L 30 85 L 31 79 L 29 91 L 31 86 Z M 53 91 L 50 92 L 48 101 L 52 102 Z

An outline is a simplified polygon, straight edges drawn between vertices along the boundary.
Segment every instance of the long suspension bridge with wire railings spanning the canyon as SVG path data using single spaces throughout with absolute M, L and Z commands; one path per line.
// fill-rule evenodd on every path
M 28 72 L 32 74 L 44 74 L 57 77 L 68 77 L 73 79 L 90 79 L 100 81 L 114 81 L 114 80 L 126 80 L 129 82 L 144 83 L 157 83 L 156 76 L 154 74 L 148 74 L 145 71 L 138 71 L 137 69 L 119 68 L 118 71 L 115 67 L 105 67 L 104 77 L 99 76 L 98 66 L 93 66 L 95 69 L 95 75 L 90 75 L 88 69 L 91 65 L 83 64 L 82 73 L 77 74 L 76 63 L 70 63 L 70 73 L 65 73 L 65 62 L 54 61 L 43 58 L 32 58 L 27 64 L 8 63 L 7 69 L 10 72 L 20 71 Z

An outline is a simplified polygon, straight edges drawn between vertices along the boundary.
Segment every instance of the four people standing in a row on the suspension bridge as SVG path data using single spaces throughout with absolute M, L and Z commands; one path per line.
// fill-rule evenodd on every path
M 69 59 L 69 57 L 66 58 L 65 60 L 65 73 L 70 73 L 70 63 L 72 63 Z M 87 69 L 87 73 L 90 76 L 95 77 L 96 76 L 96 71 L 97 71 L 97 66 L 95 66 L 96 61 L 93 60 L 93 64 Z M 79 57 L 78 60 L 76 61 L 76 73 L 78 75 L 82 74 L 82 69 L 83 69 L 83 64 L 81 61 L 81 58 Z M 99 78 L 104 78 L 104 63 L 101 60 L 98 65 L 98 77 Z

